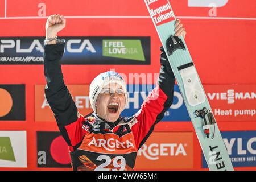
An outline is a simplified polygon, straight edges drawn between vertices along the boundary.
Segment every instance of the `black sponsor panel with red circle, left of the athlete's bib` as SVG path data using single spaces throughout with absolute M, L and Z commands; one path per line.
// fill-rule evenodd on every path
M 38 167 L 70 168 L 68 144 L 59 132 L 38 131 Z

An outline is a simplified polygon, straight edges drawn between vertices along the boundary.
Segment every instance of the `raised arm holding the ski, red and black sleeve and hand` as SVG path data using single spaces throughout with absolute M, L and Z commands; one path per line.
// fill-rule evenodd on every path
M 185 38 L 186 31 L 179 19 L 177 19 L 175 26 L 175 35 Z M 141 109 L 135 114 L 136 121 L 132 127 L 137 149 L 141 148 L 154 130 L 156 123 L 164 117 L 164 113 L 171 107 L 174 97 L 174 73 L 163 47 L 160 49 L 162 53 L 160 55 L 161 68 L 158 82 L 152 93 L 143 102 Z

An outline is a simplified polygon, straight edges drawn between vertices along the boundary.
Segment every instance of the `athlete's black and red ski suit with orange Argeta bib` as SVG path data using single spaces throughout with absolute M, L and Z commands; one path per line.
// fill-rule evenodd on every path
M 172 104 L 175 77 L 163 48 L 158 84 L 138 113 L 115 126 L 91 114 L 84 117 L 63 80 L 60 60 L 65 43 L 44 46 L 46 98 L 68 143 L 74 170 L 133 170 L 137 151 Z M 153 99 L 152 99 L 153 98 Z

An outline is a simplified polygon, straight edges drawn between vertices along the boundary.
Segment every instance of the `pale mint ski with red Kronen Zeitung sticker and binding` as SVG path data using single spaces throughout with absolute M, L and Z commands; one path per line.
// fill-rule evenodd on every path
M 175 36 L 176 18 L 168 0 L 144 0 L 167 53 L 205 160 L 211 171 L 233 171 L 216 120 L 183 37 Z

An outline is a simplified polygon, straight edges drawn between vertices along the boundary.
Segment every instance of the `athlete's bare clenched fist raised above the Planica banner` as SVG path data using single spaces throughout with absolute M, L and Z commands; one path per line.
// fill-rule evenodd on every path
M 62 15 L 51 15 L 46 22 L 46 38 L 55 38 L 57 33 L 66 26 L 66 19 Z

